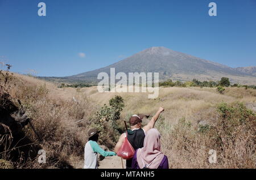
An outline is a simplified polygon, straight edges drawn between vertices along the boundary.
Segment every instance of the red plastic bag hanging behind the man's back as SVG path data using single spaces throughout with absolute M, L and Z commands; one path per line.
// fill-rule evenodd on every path
M 130 158 L 133 158 L 134 153 L 134 148 L 127 139 L 126 132 L 125 141 L 123 142 L 122 147 L 119 149 L 117 156 L 122 157 L 125 160 L 129 160 Z

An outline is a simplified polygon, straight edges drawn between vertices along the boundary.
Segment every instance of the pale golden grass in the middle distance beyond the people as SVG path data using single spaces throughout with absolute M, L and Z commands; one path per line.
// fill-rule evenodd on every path
M 164 118 L 172 124 L 176 124 L 182 117 L 190 119 L 192 123 L 211 121 L 212 115 L 216 114 L 214 108 L 222 101 L 256 102 L 255 89 L 226 88 L 226 91 L 224 95 L 220 95 L 216 88 L 160 87 L 159 97 L 154 100 L 148 99 L 147 93 L 98 93 L 97 87 L 81 89 L 82 93 L 100 105 L 108 104 L 110 98 L 115 95 L 121 95 L 125 100 L 125 108 L 121 114 L 123 118 L 126 118 L 127 114 L 153 114 L 159 106 L 163 106 L 166 109 Z

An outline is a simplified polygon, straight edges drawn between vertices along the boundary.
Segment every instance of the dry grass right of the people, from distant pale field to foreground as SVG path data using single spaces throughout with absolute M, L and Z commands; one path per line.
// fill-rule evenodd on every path
M 226 88 L 225 94 L 220 95 L 216 88 L 160 88 L 155 100 L 148 99 L 146 93 L 98 93 L 95 89 L 90 87 L 83 91 L 94 92 L 88 95 L 99 104 L 106 104 L 113 96 L 121 95 L 126 105 L 122 117 L 126 120 L 128 114 L 153 114 L 159 106 L 165 108 L 164 121 L 159 120 L 156 127 L 162 133 L 162 149 L 169 158 L 170 168 L 256 167 L 255 117 L 247 125 L 236 126 L 230 138 L 216 111 L 221 102 L 255 104 L 255 89 Z M 186 123 L 179 123 L 180 119 L 186 119 Z M 215 126 L 217 131 L 198 133 L 200 125 Z M 222 142 L 218 144 L 216 138 L 222 138 Z M 217 164 L 208 161 L 210 149 L 217 151 Z

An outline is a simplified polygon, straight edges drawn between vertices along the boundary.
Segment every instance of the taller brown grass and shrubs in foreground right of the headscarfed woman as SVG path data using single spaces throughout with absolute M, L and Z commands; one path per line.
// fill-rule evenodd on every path
M 171 125 L 160 117 L 156 128 L 170 168 L 255 168 L 256 115 L 240 103 L 221 103 L 216 111 L 216 121 L 197 129 L 189 119 Z M 216 163 L 208 160 L 210 149 L 217 152 Z

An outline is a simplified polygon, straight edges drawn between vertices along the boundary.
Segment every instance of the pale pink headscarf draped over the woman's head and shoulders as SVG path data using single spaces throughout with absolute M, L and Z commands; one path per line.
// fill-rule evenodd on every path
M 137 150 L 139 168 L 142 169 L 147 165 L 149 169 L 158 169 L 164 157 L 164 154 L 160 152 L 160 136 L 160 132 L 155 128 L 147 131 L 144 139 L 144 147 Z

